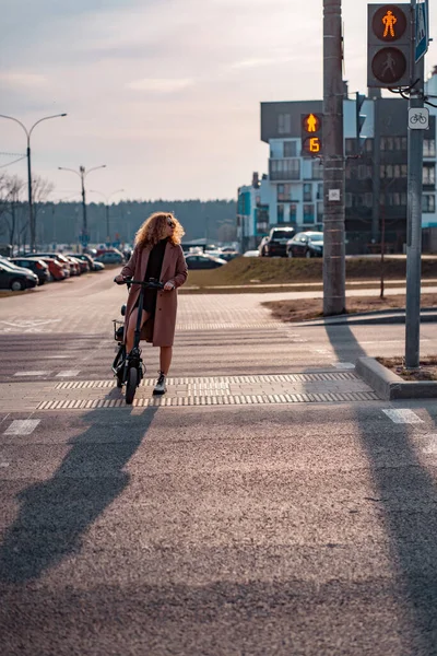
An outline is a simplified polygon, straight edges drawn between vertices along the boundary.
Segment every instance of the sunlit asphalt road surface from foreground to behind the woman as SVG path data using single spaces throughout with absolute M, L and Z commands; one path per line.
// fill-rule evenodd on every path
M 109 273 L 0 300 L 1 653 L 437 654 L 436 403 L 26 409 L 119 394 L 93 387 Z M 180 296 L 181 394 L 293 373 L 332 391 L 357 356 L 402 354 L 402 326 L 297 329 L 259 301 Z

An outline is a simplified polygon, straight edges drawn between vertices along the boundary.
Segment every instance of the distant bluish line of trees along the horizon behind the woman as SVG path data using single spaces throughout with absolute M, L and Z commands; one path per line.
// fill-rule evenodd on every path
M 33 207 L 36 242 L 39 245 L 75 244 L 82 232 L 82 203 L 50 201 L 54 185 L 35 176 Z M 109 204 L 109 235 L 104 202 L 87 202 L 86 218 L 90 242 L 131 244 L 141 223 L 156 211 L 174 212 L 186 231 L 185 241 L 206 238 L 209 242 L 236 239 L 234 200 L 122 200 Z M 21 248 L 28 244 L 27 183 L 19 176 L 0 175 L 0 242 Z

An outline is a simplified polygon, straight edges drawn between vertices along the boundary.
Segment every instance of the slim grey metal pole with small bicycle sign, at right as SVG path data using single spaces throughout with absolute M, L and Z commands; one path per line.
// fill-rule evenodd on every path
M 411 7 L 414 15 L 416 0 L 411 0 Z M 420 81 L 411 92 L 410 109 L 424 106 L 424 58 L 414 63 L 414 39 L 412 48 L 412 79 Z M 421 339 L 423 130 L 409 129 L 408 139 L 405 367 L 415 370 L 420 365 Z

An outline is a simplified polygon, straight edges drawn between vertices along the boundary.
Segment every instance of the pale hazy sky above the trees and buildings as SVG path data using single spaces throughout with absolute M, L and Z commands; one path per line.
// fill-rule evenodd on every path
M 70 4 L 70 7 L 67 7 Z M 235 198 L 268 167 L 260 103 L 321 98 L 322 0 L 0 0 L 0 114 L 71 197 Z M 345 79 L 366 91 L 367 0 L 343 0 Z M 437 11 L 430 34 L 437 38 Z M 426 71 L 437 65 L 432 44 Z M 25 152 L 0 119 L 0 151 Z M 14 157 L 0 155 L 0 165 Z M 9 173 L 26 176 L 25 161 Z M 90 194 L 88 200 L 98 200 Z

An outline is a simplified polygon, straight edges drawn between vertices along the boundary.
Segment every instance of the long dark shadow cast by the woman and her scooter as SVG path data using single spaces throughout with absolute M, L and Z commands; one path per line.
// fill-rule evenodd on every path
M 96 423 L 102 412 L 108 411 L 82 415 L 92 425 L 69 443 L 72 448 L 52 478 L 17 495 L 19 515 L 0 546 L 0 581 L 20 584 L 38 578 L 80 550 L 81 536 L 129 484 L 123 467 L 139 448 L 157 409 L 129 414 L 128 427 L 123 425 L 128 434 L 120 434 L 115 426 L 115 436 L 102 443 L 95 441 Z M 126 409 L 120 412 L 126 417 Z

